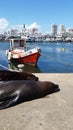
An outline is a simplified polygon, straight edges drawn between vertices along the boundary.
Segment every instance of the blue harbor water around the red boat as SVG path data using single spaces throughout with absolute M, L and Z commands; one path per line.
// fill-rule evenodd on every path
M 73 73 L 73 43 L 33 42 L 27 43 L 27 48 L 41 48 L 41 56 L 37 67 L 24 65 L 23 71 L 32 73 Z M 16 63 L 8 63 L 6 50 L 9 42 L 0 42 L 0 70 L 18 69 Z

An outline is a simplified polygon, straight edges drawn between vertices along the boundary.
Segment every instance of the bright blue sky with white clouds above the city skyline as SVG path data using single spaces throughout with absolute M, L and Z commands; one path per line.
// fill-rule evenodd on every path
M 73 0 L 0 0 L 0 33 L 23 24 L 42 32 L 52 24 L 73 28 Z

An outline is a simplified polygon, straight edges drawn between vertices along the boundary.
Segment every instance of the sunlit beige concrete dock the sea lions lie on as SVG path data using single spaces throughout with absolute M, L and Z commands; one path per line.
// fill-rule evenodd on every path
M 58 84 L 60 91 L 0 110 L 0 130 L 73 130 L 73 74 L 35 75 Z

